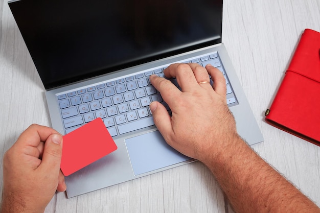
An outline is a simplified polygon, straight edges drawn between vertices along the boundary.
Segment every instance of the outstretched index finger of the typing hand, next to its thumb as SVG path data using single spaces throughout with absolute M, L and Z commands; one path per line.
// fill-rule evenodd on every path
M 171 81 L 158 77 L 150 76 L 151 84 L 161 93 L 163 100 L 171 106 L 174 104 L 176 97 L 180 96 L 181 91 Z

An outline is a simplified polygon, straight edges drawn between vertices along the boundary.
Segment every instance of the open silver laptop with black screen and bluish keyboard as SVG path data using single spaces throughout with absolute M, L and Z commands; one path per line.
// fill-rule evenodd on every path
M 65 177 L 68 198 L 195 161 L 166 144 L 149 109 L 159 101 L 170 113 L 148 77 L 164 77 L 172 63 L 217 67 L 238 133 L 249 145 L 263 141 L 221 43 L 222 0 L 8 4 L 43 82 L 52 127 L 66 134 L 101 117 L 118 146 Z

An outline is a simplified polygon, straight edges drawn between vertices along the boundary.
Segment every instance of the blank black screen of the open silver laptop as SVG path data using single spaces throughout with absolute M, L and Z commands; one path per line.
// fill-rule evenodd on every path
M 46 89 L 221 42 L 222 0 L 19 0 Z

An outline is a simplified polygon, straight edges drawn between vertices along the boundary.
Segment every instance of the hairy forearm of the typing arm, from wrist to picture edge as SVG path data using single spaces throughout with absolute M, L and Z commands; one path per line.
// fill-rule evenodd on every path
M 320 212 L 241 138 L 204 163 L 236 212 Z M 227 144 L 227 143 L 226 143 Z

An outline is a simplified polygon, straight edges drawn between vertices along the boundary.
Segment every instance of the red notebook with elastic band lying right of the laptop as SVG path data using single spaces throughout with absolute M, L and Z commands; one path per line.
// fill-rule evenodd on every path
M 306 29 L 265 120 L 320 146 L 320 33 Z

